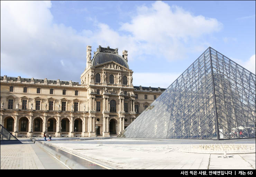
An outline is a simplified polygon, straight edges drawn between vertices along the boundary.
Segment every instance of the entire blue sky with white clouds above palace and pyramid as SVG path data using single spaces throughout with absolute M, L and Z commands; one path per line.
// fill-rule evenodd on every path
M 128 50 L 136 86 L 167 88 L 209 46 L 255 73 L 255 1 L 1 1 L 1 76 L 80 82 L 86 45 Z

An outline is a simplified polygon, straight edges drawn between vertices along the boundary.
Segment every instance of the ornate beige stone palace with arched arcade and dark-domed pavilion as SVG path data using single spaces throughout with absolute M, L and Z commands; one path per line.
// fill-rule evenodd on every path
M 118 135 L 163 88 L 133 86 L 127 51 L 86 47 L 81 84 L 1 76 L 1 125 L 15 136 Z

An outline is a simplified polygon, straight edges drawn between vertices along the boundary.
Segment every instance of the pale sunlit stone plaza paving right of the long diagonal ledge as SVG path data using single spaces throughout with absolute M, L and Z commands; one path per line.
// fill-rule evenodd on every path
M 112 141 L 112 144 L 105 143 L 106 141 Z M 105 139 L 84 144 L 66 141 L 47 143 L 122 169 L 255 169 L 255 153 L 241 156 L 229 154 L 232 157 L 222 158 L 221 154 L 181 152 L 181 145 L 177 144 L 150 144 L 152 140 L 145 144 L 115 144 L 113 141 L 115 140 Z

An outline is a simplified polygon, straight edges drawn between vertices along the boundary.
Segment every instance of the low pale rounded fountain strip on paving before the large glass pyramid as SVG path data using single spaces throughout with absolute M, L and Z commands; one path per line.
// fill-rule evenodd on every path
M 247 154 L 255 153 L 255 144 L 182 145 L 180 151 L 200 154 Z

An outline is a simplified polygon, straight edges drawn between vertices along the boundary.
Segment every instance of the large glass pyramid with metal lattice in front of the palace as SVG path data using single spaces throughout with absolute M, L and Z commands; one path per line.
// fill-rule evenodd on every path
M 118 138 L 255 138 L 255 75 L 209 47 Z

